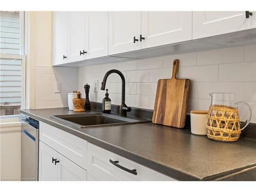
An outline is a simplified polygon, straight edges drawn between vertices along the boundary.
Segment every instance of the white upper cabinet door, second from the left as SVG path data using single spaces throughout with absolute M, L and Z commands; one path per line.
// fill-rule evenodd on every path
M 69 62 L 84 60 L 84 32 L 85 12 L 69 12 Z

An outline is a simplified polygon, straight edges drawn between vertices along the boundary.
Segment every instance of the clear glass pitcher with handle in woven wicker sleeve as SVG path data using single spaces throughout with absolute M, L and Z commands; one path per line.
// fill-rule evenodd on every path
M 217 141 L 237 141 L 251 120 L 251 108 L 246 102 L 236 102 L 235 93 L 210 93 L 206 134 Z M 238 107 L 243 106 L 247 118 L 241 122 Z

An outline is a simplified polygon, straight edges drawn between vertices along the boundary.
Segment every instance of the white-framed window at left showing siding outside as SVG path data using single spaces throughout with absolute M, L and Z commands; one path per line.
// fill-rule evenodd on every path
M 18 115 L 25 106 L 24 12 L 0 11 L 0 110 Z

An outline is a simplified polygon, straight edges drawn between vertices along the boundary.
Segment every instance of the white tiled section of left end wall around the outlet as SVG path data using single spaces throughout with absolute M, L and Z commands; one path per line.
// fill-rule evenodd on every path
M 67 106 L 68 93 L 78 90 L 78 68 L 36 66 L 35 70 L 35 107 Z M 54 82 L 61 83 L 61 93 L 54 93 Z

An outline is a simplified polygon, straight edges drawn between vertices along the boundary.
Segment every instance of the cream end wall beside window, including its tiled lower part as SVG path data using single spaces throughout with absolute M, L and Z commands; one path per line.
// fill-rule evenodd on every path
M 29 12 L 29 108 L 56 108 L 68 105 L 68 93 L 78 89 L 78 68 L 52 67 L 52 12 Z M 54 93 L 54 82 L 61 93 Z

